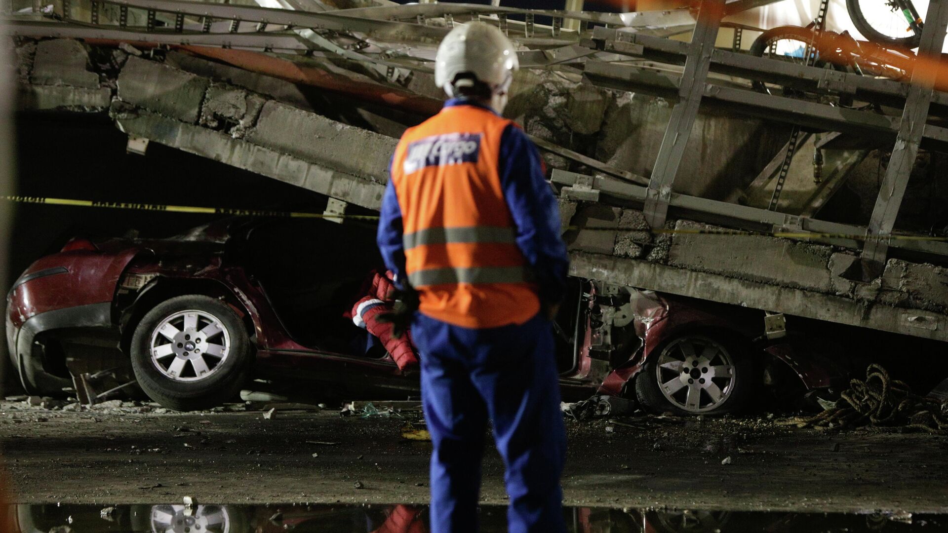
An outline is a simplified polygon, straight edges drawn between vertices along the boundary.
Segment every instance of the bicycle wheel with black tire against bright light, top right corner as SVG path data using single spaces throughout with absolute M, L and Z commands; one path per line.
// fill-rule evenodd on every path
M 909 21 L 928 10 L 928 0 L 846 0 L 846 10 L 852 25 L 869 41 L 918 48 L 921 31 L 916 32 L 917 25 Z

